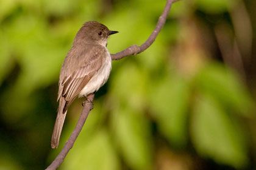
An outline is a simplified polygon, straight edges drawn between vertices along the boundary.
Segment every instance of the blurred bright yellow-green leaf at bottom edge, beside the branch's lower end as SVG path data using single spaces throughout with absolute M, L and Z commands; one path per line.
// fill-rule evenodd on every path
M 69 152 L 62 169 L 120 169 L 120 163 L 107 131 L 100 130 L 87 142 L 80 142 Z

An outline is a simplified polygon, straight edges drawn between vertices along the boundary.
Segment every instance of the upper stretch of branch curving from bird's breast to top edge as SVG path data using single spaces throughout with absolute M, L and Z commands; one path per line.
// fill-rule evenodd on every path
M 169 13 L 169 10 L 171 9 L 171 5 L 176 1 L 179 0 L 166 1 L 165 9 L 163 10 L 162 15 L 158 18 L 157 26 L 155 26 L 155 29 L 153 30 L 153 32 L 151 33 L 146 42 L 144 42 L 141 46 L 133 44 L 132 46 L 128 47 L 127 49 L 119 53 L 111 54 L 112 60 L 120 60 L 121 58 L 124 58 L 128 55 L 137 55 L 138 53 L 144 52 L 144 50 L 148 49 L 148 47 L 151 46 L 151 44 L 155 41 L 155 38 L 157 38 L 157 35 L 163 28 L 163 25 L 165 25 L 165 21 Z

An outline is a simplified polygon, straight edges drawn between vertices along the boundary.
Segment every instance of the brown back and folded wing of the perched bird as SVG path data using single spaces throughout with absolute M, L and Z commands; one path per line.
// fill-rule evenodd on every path
M 80 48 L 81 49 L 81 48 Z M 59 95 L 64 97 L 66 106 L 63 112 L 79 95 L 80 91 L 102 66 L 107 50 L 102 46 L 84 47 L 82 50 L 71 49 L 66 56 L 60 72 Z

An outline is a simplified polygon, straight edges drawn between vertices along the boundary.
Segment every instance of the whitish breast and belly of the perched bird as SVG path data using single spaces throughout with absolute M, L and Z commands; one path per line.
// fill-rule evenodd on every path
M 110 74 L 110 70 L 112 69 L 111 63 L 112 63 L 111 56 L 110 56 L 110 53 L 108 52 L 107 59 L 103 61 L 102 67 L 98 70 L 98 72 L 96 72 L 93 75 L 93 77 L 84 87 L 84 89 L 82 89 L 82 91 L 79 94 L 79 97 L 84 97 L 84 96 L 87 96 L 88 94 L 96 92 L 97 90 L 99 90 L 101 86 L 103 86 L 107 82 Z

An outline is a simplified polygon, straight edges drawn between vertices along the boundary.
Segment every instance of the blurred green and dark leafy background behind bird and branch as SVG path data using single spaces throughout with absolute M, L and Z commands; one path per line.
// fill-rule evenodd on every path
M 164 0 L 0 1 L 0 169 L 44 169 L 82 110 L 51 135 L 60 67 L 77 30 L 118 30 L 110 53 L 142 44 Z M 172 5 L 154 44 L 113 61 L 59 169 L 256 169 L 256 1 Z

